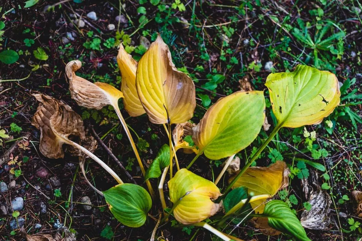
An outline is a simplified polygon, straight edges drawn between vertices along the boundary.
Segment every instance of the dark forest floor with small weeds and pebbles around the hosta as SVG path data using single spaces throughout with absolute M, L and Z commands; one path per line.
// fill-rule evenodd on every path
M 302 174 L 295 171 L 289 188 L 276 198 L 289 203 L 299 218 L 309 204 L 302 179 L 317 176 L 317 184 L 331 197 L 327 214 L 331 221 L 325 230 L 306 229 L 311 240 L 358 241 L 362 237 L 362 210 L 351 194 L 362 190 L 362 6 L 358 0 L 132 0 L 122 1 L 122 5 L 114 0 L 52 0 L 23 6 L 23 1 L 15 0 L 3 0 L 0 6 L 1 15 L 5 13 L 0 50 L 11 49 L 19 55 L 14 64 L 0 63 L 0 134 L 4 130 L 3 134 L 9 135 L 0 135 L 0 240 L 20 241 L 25 240 L 24 233 L 54 236 L 57 232 L 68 241 L 150 239 L 160 203 L 151 209 L 153 218 L 142 227 L 120 224 L 105 199 L 88 186 L 78 157 L 66 150 L 64 158 L 48 159 L 39 152 L 40 133 L 30 121 L 38 106 L 33 94 L 62 100 L 82 117 L 90 133 L 95 130 L 134 180 L 146 187 L 112 108 L 79 107 L 71 99 L 65 66 L 79 59 L 81 77 L 120 87 L 115 59 L 119 43 L 125 43 L 126 50 L 139 60 L 157 33 L 168 44 L 176 67 L 195 83 L 195 123 L 222 96 L 240 88 L 266 90 L 265 79 L 271 72 L 290 72 L 297 64 L 306 64 L 335 73 L 341 105 L 321 124 L 306 127 L 307 132 L 316 133 L 313 150 L 306 148 L 303 128 L 283 128 L 256 165 L 284 160 L 291 169 L 298 168 Z M 275 126 L 268 94 L 265 96 L 270 130 L 262 129 L 251 147 L 238 154 L 241 164 Z M 134 138 L 138 136 L 137 146 L 147 167 L 168 137 L 163 127 L 152 124 L 146 115 L 129 117 L 122 106 L 121 111 Z M 126 176 L 99 143 L 94 153 Z M 182 167 L 194 157 L 177 153 Z M 295 159 L 300 153 L 312 164 Z M 201 156 L 192 170 L 212 180 L 223 161 Z M 86 171 L 100 190 L 116 184 L 94 162 L 86 164 Z M 152 185 L 156 189 L 157 178 Z M 227 178 L 221 187 L 224 185 Z M 14 212 L 16 205 L 20 205 L 18 213 Z M 216 240 L 197 227 L 177 229 L 174 224 L 163 225 L 157 235 L 170 241 L 191 237 Z M 224 232 L 234 228 L 230 223 Z M 243 240 L 291 240 L 282 234 L 265 236 L 248 223 L 236 227 L 232 235 Z

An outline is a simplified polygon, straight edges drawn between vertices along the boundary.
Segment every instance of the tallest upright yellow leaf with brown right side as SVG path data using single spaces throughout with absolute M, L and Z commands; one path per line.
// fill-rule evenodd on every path
M 136 87 L 152 123 L 168 123 L 168 117 L 171 124 L 191 119 L 196 106 L 194 82 L 175 68 L 160 35 L 138 63 Z

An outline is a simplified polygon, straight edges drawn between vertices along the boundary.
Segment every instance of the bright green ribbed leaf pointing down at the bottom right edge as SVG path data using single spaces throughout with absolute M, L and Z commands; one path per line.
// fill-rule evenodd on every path
M 271 228 L 289 234 L 297 241 L 311 241 L 302 224 L 285 202 L 280 200 L 269 201 L 266 203 L 262 215 L 268 218 L 268 224 Z

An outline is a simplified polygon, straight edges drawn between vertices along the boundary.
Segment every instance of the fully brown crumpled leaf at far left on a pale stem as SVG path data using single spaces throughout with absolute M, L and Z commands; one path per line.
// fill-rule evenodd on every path
M 81 117 L 61 100 L 34 94 L 41 103 L 31 119 L 31 124 L 40 129 L 39 150 L 48 158 L 63 158 L 63 143 L 70 143 L 70 135 L 85 138 Z

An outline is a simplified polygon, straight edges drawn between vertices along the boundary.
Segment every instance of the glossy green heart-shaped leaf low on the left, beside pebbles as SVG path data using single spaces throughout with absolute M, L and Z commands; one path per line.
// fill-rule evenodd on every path
M 137 228 L 144 224 L 152 206 L 150 194 L 141 186 L 125 183 L 103 191 L 109 210 L 122 224 Z

